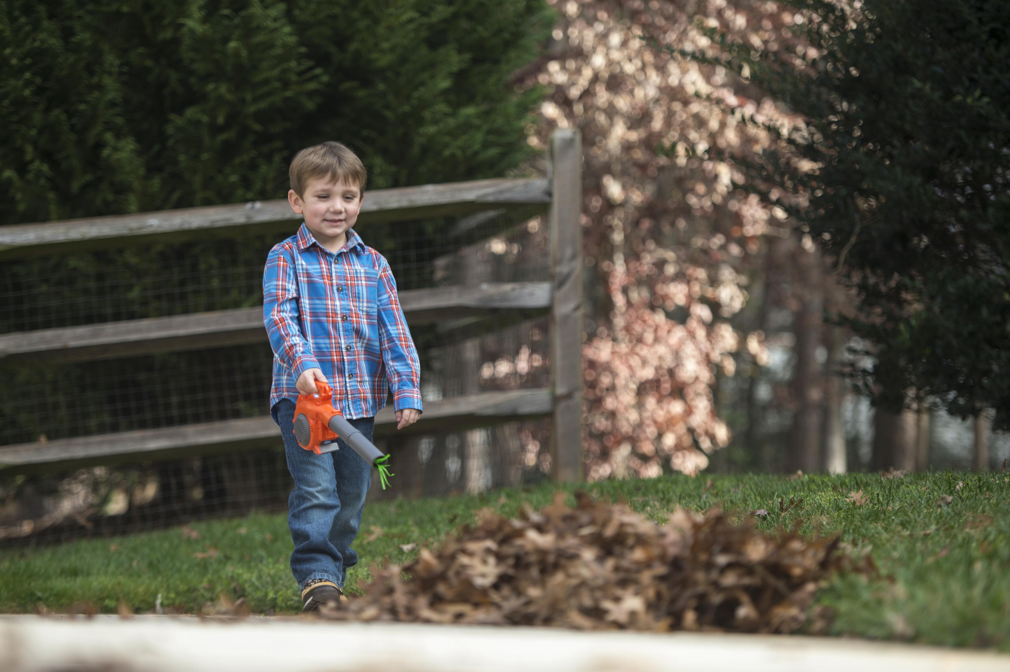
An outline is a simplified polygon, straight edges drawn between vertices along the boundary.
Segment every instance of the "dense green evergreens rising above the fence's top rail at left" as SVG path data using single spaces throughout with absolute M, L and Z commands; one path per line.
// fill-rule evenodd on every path
M 528 156 L 542 0 L 0 0 L 0 223 L 283 198 L 311 143 L 371 187 Z

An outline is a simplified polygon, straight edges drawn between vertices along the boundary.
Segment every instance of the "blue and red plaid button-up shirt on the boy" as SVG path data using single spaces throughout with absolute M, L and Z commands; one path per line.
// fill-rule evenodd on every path
M 319 368 L 345 418 L 376 415 L 389 389 L 395 410 L 422 410 L 417 350 L 393 271 L 354 229 L 335 254 L 304 223 L 275 245 L 263 272 L 263 319 L 274 349 L 271 408 L 297 401 L 298 376 Z

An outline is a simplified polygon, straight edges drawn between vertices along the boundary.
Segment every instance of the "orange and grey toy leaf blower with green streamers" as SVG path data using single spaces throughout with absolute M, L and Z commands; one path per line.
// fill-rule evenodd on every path
M 325 382 L 316 380 L 317 395 L 299 395 L 295 405 L 295 439 L 305 450 L 316 455 L 339 450 L 336 439 L 350 446 L 365 461 L 379 469 L 383 489 L 389 484 L 389 455 L 375 447 L 365 435 L 354 428 L 340 412 L 333 408 L 333 393 Z M 324 442 L 331 443 L 324 443 Z

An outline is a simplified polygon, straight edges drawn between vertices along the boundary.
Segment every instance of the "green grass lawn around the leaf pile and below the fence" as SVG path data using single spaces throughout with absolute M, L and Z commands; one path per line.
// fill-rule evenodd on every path
M 677 507 L 718 506 L 742 516 L 767 510 L 759 525 L 772 533 L 796 518 L 803 519 L 806 534 L 840 532 L 850 552 L 871 554 L 883 578 L 840 576 L 818 593 L 818 604 L 836 613 L 831 632 L 1010 651 L 1010 472 L 896 479 L 669 476 L 582 487 L 597 497 L 624 499 L 656 521 Z M 514 516 L 523 501 L 542 507 L 554 489 L 547 484 L 370 505 L 356 545 L 362 561 L 349 572 L 348 591 L 370 578 L 373 563 L 402 563 L 416 555 L 416 549 L 405 552 L 401 545 L 437 544 L 484 507 L 505 516 Z M 951 497 L 948 502 L 944 495 Z M 783 515 L 782 497 L 803 502 Z M 161 594 L 163 607 L 192 612 L 224 592 L 231 599 L 244 597 L 255 613 L 293 612 L 299 601 L 288 568 L 290 551 L 284 515 L 6 550 L 0 552 L 0 610 L 60 611 L 84 601 L 102 611 L 115 611 L 120 602 L 146 611 Z

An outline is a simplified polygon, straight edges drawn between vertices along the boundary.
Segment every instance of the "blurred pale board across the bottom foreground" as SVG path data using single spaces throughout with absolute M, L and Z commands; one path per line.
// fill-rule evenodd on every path
M 814 637 L 580 633 L 307 618 L 0 617 L 0 669 L 145 672 L 1006 672 L 1010 656 Z M 304 643 L 311 641 L 313 646 Z

